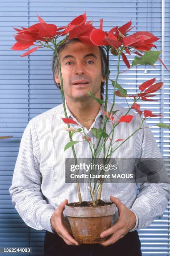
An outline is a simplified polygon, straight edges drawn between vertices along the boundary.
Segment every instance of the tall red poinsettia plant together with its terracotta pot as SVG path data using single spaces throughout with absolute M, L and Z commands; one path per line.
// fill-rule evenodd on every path
M 72 139 L 74 133 L 81 133 L 82 138 L 87 141 L 89 144 L 89 150 L 91 152 L 91 163 L 95 163 L 96 159 L 100 156 L 102 152 L 103 156 L 103 169 L 100 174 L 102 175 L 105 171 L 105 165 L 110 162 L 112 154 L 129 138 L 131 138 L 135 133 L 137 133 L 141 128 L 143 128 L 143 123 L 147 118 L 162 116 L 162 115 L 154 115 L 150 110 L 140 110 L 140 104 L 137 102 L 140 100 L 145 101 L 154 101 L 150 97 L 153 97 L 153 93 L 160 90 L 163 83 L 156 82 L 156 79 L 150 79 L 145 81 L 143 84 L 139 86 L 139 92 L 137 95 L 128 95 L 127 91 L 122 88 L 122 86 L 118 83 L 118 78 L 120 74 L 120 61 L 126 64 L 127 68 L 130 69 L 136 65 L 152 65 L 160 59 L 161 51 L 151 51 L 152 47 L 156 46 L 153 44 L 159 38 L 154 36 L 152 33 L 138 31 L 129 34 L 131 27 L 131 21 L 126 23 L 125 25 L 110 29 L 109 32 L 105 32 L 102 29 L 103 20 L 100 19 L 100 28 L 94 28 L 92 26 L 92 21 L 86 21 L 86 13 L 80 15 L 73 19 L 67 26 L 62 26 L 57 28 L 54 24 L 47 24 L 40 16 L 38 15 L 39 23 L 36 23 L 29 28 L 14 28 L 17 33 L 15 34 L 15 40 L 17 41 L 14 46 L 11 48 L 13 50 L 25 50 L 30 46 L 36 46 L 31 50 L 25 52 L 21 56 L 27 56 L 31 54 L 33 51 L 47 47 L 52 49 L 55 52 L 57 61 L 59 63 L 59 72 L 61 79 L 61 93 L 62 93 L 62 103 L 65 112 L 65 117 L 62 118 L 62 121 L 67 124 L 66 130 L 68 131 L 68 143 L 65 145 L 63 150 L 67 150 L 68 148 L 72 148 L 72 154 L 77 164 L 77 156 L 74 145 L 78 143 L 78 141 L 74 141 Z M 59 42 L 57 39 L 60 36 L 64 36 Z M 97 139 L 97 146 L 95 146 L 91 138 L 88 137 L 85 133 L 85 126 L 82 125 L 77 129 L 72 128 L 70 125 L 77 123 L 68 118 L 67 111 L 65 107 L 65 97 L 62 83 L 62 72 L 61 72 L 61 64 L 60 58 L 57 52 L 57 48 L 64 43 L 66 40 L 71 40 L 72 38 L 78 38 L 80 41 L 83 41 L 86 44 L 90 44 L 92 46 L 102 46 L 105 49 L 107 54 L 107 77 L 105 83 L 105 100 L 98 99 L 92 92 L 88 92 L 90 96 L 101 106 L 104 106 L 102 109 L 102 113 L 105 115 L 105 119 L 103 122 L 102 128 L 92 128 L 92 134 Z M 109 69 L 109 54 L 113 54 L 117 56 L 117 75 L 114 80 L 110 79 L 110 69 Z M 128 55 L 136 54 L 135 59 L 132 62 L 132 66 L 128 61 Z M 165 66 L 165 64 L 161 61 L 161 63 Z M 166 68 L 166 67 L 165 67 Z M 110 110 L 107 110 L 107 101 L 108 101 L 108 83 L 111 82 L 113 86 L 113 102 Z M 128 105 L 127 112 L 125 115 L 122 115 L 120 118 L 117 118 L 116 111 L 113 111 L 115 105 L 115 96 L 130 98 L 133 100 L 133 104 L 131 106 Z M 130 110 L 135 110 L 137 114 L 130 112 Z M 122 122 L 130 123 L 135 115 L 140 116 L 140 125 L 139 127 L 133 131 L 128 138 L 117 138 L 115 141 L 114 131 L 118 125 L 121 125 Z M 109 121 L 111 123 L 111 131 L 109 134 L 106 133 L 106 123 Z M 169 125 L 165 125 L 164 123 L 159 123 L 157 126 L 168 128 Z M 106 148 L 106 144 L 108 144 L 108 148 Z M 117 144 L 117 146 L 115 146 Z M 113 146 L 114 145 L 114 146 Z M 78 173 L 78 172 L 77 172 Z M 90 174 L 95 174 L 93 169 L 90 169 Z M 110 227 L 112 221 L 112 215 L 115 213 L 115 205 L 110 202 L 103 202 L 102 198 L 102 187 L 103 187 L 104 179 L 96 179 L 94 178 L 93 183 L 90 179 L 89 181 L 89 193 L 91 197 L 90 202 L 83 202 L 82 195 L 80 191 L 80 185 L 78 180 L 76 180 L 77 193 L 79 202 L 72 202 L 68 204 L 65 209 L 67 216 L 69 216 L 70 225 L 72 229 L 73 236 L 79 243 L 101 243 L 105 241 L 107 238 L 100 238 L 100 233 Z M 85 207 L 86 206 L 86 207 Z M 83 222 L 82 219 L 83 218 Z M 102 220 L 101 220 L 102 218 Z M 85 219 L 87 222 L 85 222 Z M 88 225 L 91 221 L 93 221 L 93 225 Z M 96 223 L 95 223 L 96 221 Z M 81 228 L 81 223 L 83 223 Z M 99 225 L 100 223 L 100 225 Z M 101 225 L 103 224 L 103 226 Z M 94 231 L 94 226 L 97 225 L 97 229 Z M 77 228 L 76 228 L 77 227 Z M 88 228 L 90 227 L 90 228 Z M 85 234 L 83 233 L 86 230 Z

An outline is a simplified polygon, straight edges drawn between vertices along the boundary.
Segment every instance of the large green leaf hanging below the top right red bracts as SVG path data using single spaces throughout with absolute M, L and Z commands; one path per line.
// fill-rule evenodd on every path
M 142 57 L 135 57 L 132 61 L 132 67 L 136 65 L 153 65 L 162 51 L 147 51 Z

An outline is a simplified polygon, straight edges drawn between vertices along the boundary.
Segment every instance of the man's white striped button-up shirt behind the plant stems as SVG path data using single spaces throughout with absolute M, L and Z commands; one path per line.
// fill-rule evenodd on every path
M 111 105 L 111 102 L 107 103 L 107 112 L 109 112 Z M 67 105 L 66 110 L 68 117 L 79 123 L 72 116 Z M 120 116 L 127 112 L 125 108 L 118 105 L 114 106 L 114 110 L 119 110 L 116 113 L 115 120 L 116 118 L 118 120 Z M 134 113 L 131 114 L 134 115 Z M 99 110 L 90 129 L 85 128 L 87 136 L 91 138 L 95 145 L 97 145 L 97 138 L 92 135 L 91 128 L 102 128 L 103 116 L 102 111 Z M 50 218 L 55 209 L 65 199 L 69 202 L 78 202 L 76 184 L 65 183 L 65 159 L 73 158 L 73 154 L 71 148 L 64 151 L 65 145 L 69 142 L 68 131 L 65 131 L 64 128 L 67 125 L 61 119 L 64 117 L 63 105 L 60 104 L 30 120 L 21 139 L 13 181 L 9 189 L 12 203 L 20 217 L 28 226 L 37 230 L 53 232 Z M 114 141 L 118 138 L 125 139 L 130 136 L 139 128 L 140 123 L 139 115 L 135 115 L 130 123 L 117 125 L 114 132 Z M 144 122 L 145 126 L 148 125 Z M 79 128 L 77 125 L 71 125 L 71 127 Z M 110 121 L 107 121 L 107 134 L 111 131 L 111 128 Z M 82 141 L 82 136 L 80 133 L 75 133 L 72 139 Z M 108 143 L 106 143 L 106 148 Z M 77 158 L 91 158 L 87 141 L 75 144 L 75 151 Z M 102 155 L 100 157 L 102 158 Z M 152 132 L 149 128 L 145 128 L 140 129 L 118 148 L 112 154 L 112 158 L 162 158 L 162 156 Z M 137 186 L 140 187 L 138 196 Z M 87 187 L 87 183 L 80 184 L 83 201 L 91 200 Z M 110 195 L 119 198 L 126 207 L 135 213 L 137 218 L 135 228 L 140 229 L 148 227 L 157 216 L 163 214 L 168 205 L 170 184 L 104 184 L 102 200 L 109 201 Z M 67 220 L 66 216 L 65 218 Z M 118 218 L 117 211 L 113 216 L 112 225 L 117 222 Z

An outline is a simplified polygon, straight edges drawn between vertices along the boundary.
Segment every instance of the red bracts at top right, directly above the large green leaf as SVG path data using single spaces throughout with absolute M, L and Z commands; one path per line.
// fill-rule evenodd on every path
M 153 42 L 160 38 L 154 36 L 152 33 L 147 31 L 139 31 L 134 33 L 132 36 L 126 36 L 123 38 L 123 45 L 125 47 L 133 47 L 139 51 L 149 51 L 152 47 L 157 48 Z

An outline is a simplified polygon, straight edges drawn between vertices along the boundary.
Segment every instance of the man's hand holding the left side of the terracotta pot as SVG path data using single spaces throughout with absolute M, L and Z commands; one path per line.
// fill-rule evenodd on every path
M 60 206 L 55 210 L 51 216 L 51 226 L 57 232 L 57 234 L 67 243 L 67 245 L 79 245 L 77 241 L 72 237 L 72 232 L 63 217 L 63 211 L 65 205 L 68 203 L 66 199 Z

